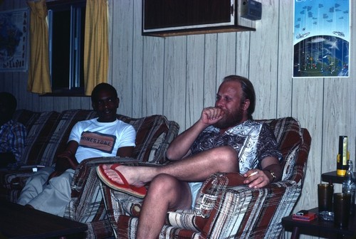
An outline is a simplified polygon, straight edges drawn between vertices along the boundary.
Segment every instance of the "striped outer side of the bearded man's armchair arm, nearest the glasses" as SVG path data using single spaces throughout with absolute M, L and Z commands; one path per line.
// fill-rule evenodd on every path
M 300 191 L 300 186 L 290 185 L 290 182 L 252 190 L 241 186 L 228 188 L 216 201 L 202 235 L 206 238 L 278 238 L 281 218 L 290 214 Z

